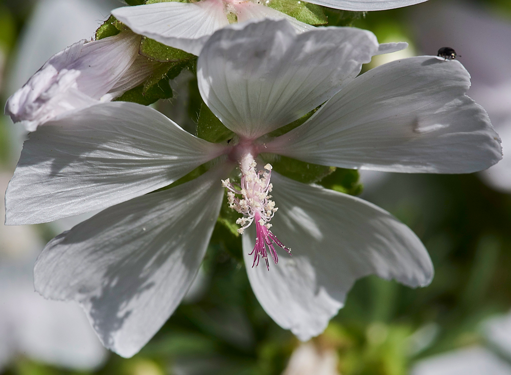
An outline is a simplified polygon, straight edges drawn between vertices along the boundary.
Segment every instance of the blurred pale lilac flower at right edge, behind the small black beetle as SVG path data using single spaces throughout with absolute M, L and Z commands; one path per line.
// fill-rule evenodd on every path
M 488 112 L 505 154 L 511 148 L 511 23 L 466 4 L 442 2 L 418 7 L 414 25 L 424 52 L 450 46 L 461 55 L 472 77 L 468 95 Z M 511 193 L 511 157 L 479 176 L 493 189 Z

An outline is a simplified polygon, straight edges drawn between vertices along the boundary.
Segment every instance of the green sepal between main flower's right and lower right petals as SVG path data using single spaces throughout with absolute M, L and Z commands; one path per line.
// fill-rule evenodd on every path
M 287 156 L 274 154 L 261 154 L 260 156 L 264 162 L 271 164 L 275 172 L 298 182 L 318 182 L 335 171 L 335 167 L 320 166 Z

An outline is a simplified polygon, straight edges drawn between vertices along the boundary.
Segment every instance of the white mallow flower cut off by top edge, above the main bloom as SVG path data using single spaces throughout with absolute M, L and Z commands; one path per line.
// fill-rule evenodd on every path
M 290 15 L 270 8 L 271 0 L 201 0 L 198 2 L 163 1 L 123 7 L 112 14 L 137 34 L 199 55 L 204 42 L 233 19 L 287 19 L 300 32 L 314 29 Z M 312 0 L 326 7 L 370 11 L 405 7 L 427 0 Z M 299 4 L 300 2 L 298 2 Z

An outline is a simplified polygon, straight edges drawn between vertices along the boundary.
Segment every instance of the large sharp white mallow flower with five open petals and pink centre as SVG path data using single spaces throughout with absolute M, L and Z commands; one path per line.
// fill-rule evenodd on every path
M 414 57 L 357 77 L 380 49 L 368 31 L 299 34 L 282 20 L 217 31 L 198 59 L 197 79 L 205 104 L 237 134 L 231 142 L 206 142 L 150 107 L 122 102 L 39 127 L 6 193 L 7 224 L 104 210 L 45 247 L 36 289 L 80 302 L 102 342 L 132 356 L 190 287 L 217 221 L 222 185 L 235 190 L 229 199 L 245 224 L 253 220 L 243 253 L 255 295 L 301 340 L 325 329 L 359 277 L 430 283 L 423 244 L 381 208 L 275 171 L 270 176 L 268 165 L 254 167 L 261 152 L 432 173 L 474 172 L 501 158 L 486 113 L 464 95 L 469 74 L 459 62 Z M 318 106 L 303 125 L 266 135 Z M 200 177 L 154 192 L 217 157 Z M 246 182 L 239 188 L 227 181 L 234 168 Z M 281 244 L 292 257 L 283 251 L 269 270 L 251 267 L 254 257 L 257 263 L 274 255 L 271 246 L 282 251 Z

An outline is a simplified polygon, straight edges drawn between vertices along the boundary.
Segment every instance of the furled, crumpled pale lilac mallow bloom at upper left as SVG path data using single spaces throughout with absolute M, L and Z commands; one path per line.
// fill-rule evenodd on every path
M 7 100 L 6 114 L 34 131 L 68 111 L 115 99 L 153 72 L 155 63 L 138 54 L 140 41 L 140 35 L 125 31 L 69 46 Z

